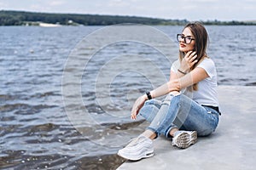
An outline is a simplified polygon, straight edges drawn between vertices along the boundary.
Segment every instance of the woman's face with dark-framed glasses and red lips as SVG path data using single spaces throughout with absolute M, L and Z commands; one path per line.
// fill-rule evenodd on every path
M 190 41 L 189 38 L 187 38 L 187 43 L 184 42 L 184 38 L 179 41 L 179 50 L 187 53 L 189 51 L 193 51 L 194 50 L 194 46 L 195 46 L 195 37 L 193 36 L 192 32 L 190 31 L 189 27 L 185 28 L 183 30 L 183 37 L 191 37 L 192 40 Z

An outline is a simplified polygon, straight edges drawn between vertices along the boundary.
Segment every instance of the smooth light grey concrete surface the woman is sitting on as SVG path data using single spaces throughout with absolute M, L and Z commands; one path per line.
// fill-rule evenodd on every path
M 222 116 L 215 133 L 186 150 L 160 137 L 153 157 L 125 161 L 118 169 L 256 169 L 255 96 L 256 87 L 218 87 Z

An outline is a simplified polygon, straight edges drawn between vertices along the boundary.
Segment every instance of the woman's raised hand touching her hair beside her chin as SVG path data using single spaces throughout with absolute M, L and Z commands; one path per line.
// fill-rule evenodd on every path
M 196 57 L 197 55 L 195 51 L 189 51 L 182 59 L 179 69 L 183 72 L 189 72 L 190 68 L 198 61 Z

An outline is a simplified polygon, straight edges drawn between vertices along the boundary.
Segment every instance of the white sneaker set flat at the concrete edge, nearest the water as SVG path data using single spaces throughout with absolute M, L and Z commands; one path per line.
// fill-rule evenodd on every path
M 151 139 L 140 135 L 136 139 L 132 139 L 125 148 L 119 150 L 118 155 L 131 161 L 154 156 L 153 142 Z

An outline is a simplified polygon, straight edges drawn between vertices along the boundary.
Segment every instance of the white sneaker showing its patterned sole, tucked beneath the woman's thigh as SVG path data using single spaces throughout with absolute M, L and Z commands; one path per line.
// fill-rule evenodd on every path
M 177 147 L 184 149 L 188 148 L 191 144 L 195 144 L 196 140 L 196 131 L 177 131 L 174 133 L 172 145 L 176 145 Z

